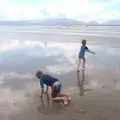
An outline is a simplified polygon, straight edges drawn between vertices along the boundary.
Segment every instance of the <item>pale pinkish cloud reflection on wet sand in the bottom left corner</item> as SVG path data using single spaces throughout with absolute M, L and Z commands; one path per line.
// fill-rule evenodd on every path
M 31 91 L 32 89 L 32 91 Z M 29 86 L 26 90 L 11 90 L 9 88 L 0 88 L 0 116 L 8 118 L 10 114 L 18 114 L 19 110 L 27 105 L 26 94 L 33 92 L 33 88 Z

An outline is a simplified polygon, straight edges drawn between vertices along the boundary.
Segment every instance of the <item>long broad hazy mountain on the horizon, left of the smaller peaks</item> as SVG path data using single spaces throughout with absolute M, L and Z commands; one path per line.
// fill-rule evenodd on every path
M 73 19 L 42 19 L 42 20 L 25 20 L 25 21 L 0 21 L 0 25 L 45 25 L 45 26 L 71 26 L 85 25 L 82 21 Z

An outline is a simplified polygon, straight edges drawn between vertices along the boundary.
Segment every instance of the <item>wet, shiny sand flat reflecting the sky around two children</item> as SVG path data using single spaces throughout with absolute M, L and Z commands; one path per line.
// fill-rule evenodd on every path
M 0 120 L 119 120 L 120 27 L 0 28 Z M 81 40 L 86 70 L 76 72 Z M 58 77 L 72 101 L 40 99 L 37 70 Z

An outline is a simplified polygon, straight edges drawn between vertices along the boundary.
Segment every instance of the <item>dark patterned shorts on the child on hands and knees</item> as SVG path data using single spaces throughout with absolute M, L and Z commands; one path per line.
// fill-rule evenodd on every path
M 57 97 L 61 92 L 61 83 L 60 81 L 56 81 L 53 85 L 52 85 L 52 97 Z

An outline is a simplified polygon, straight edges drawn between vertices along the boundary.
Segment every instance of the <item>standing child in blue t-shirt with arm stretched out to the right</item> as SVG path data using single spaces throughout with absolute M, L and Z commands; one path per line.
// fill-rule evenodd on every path
M 88 47 L 86 46 L 86 40 L 82 40 L 82 46 L 80 48 L 80 52 L 79 52 L 79 56 L 78 56 L 78 65 L 77 65 L 77 71 L 79 72 L 79 67 L 80 67 L 80 63 L 81 60 L 83 61 L 83 69 L 85 68 L 85 63 L 86 63 L 86 59 L 85 59 L 85 52 L 90 52 L 91 54 L 95 54 L 94 52 L 90 51 L 88 49 Z

